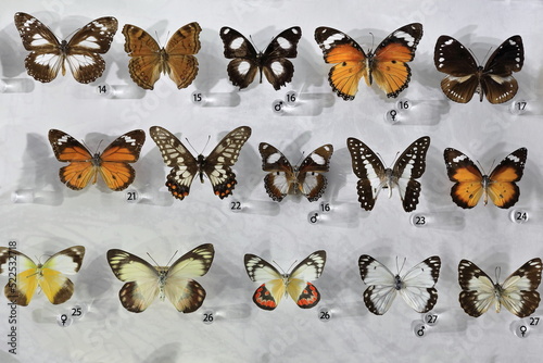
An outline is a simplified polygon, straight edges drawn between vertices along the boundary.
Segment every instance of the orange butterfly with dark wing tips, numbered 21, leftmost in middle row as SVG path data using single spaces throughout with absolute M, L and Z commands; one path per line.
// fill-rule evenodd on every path
M 126 189 L 136 176 L 134 167 L 146 133 L 135 129 L 115 139 L 102 153 L 92 154 L 81 142 L 59 129 L 49 130 L 49 142 L 56 160 L 70 163 L 61 167 L 60 178 L 68 188 L 80 190 L 90 180 L 97 183 L 98 174 L 102 175 L 105 185 L 112 190 Z

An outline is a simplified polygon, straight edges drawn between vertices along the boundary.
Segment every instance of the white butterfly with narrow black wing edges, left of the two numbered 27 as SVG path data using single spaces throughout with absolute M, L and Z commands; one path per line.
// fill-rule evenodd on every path
M 437 255 L 411 268 L 405 275 L 394 275 L 387 266 L 370 255 L 363 254 L 358 259 L 358 267 L 363 281 L 369 287 L 364 291 L 364 303 L 376 314 L 384 314 L 397 293 L 416 312 L 426 313 L 438 302 L 438 283 L 441 259 Z

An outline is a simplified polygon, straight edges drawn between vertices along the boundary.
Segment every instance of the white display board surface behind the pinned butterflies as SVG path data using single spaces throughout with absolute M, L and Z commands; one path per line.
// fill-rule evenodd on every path
M 538 361 L 543 353 L 540 330 L 519 339 L 510 330 L 518 318 L 507 311 L 493 311 L 479 318 L 464 313 L 458 303 L 457 264 L 469 259 L 494 277 L 502 267 L 503 280 L 531 258 L 541 256 L 542 147 L 541 99 L 541 16 L 539 1 L 3 1 L 0 13 L 0 77 L 29 78 L 24 68 L 24 50 L 13 25 L 16 11 L 37 16 L 60 37 L 67 38 L 89 21 L 113 15 L 119 22 L 110 52 L 108 68 L 98 83 L 132 84 L 128 57 L 123 50 L 122 26 L 131 23 L 159 35 L 198 21 L 203 28 L 200 71 L 193 85 L 177 90 L 162 77 L 154 91 L 137 99 L 108 99 L 94 92 L 96 86 L 77 84 L 71 75 L 51 84 L 34 83 L 27 93 L 0 95 L 0 236 L 2 243 L 17 241 L 21 251 L 46 259 L 70 246 L 87 248 L 81 271 L 73 279 L 76 292 L 60 306 L 43 295 L 29 306 L 18 309 L 17 355 L 7 353 L 7 305 L 0 305 L 0 360 L 51 362 L 276 362 L 276 361 Z M 425 35 L 412 63 L 413 77 L 401 97 L 416 107 L 401 125 L 383 121 L 394 107 L 377 89 L 361 84 L 356 99 L 345 102 L 331 93 L 327 82 L 329 65 L 314 41 L 317 26 L 332 26 L 355 38 L 364 49 L 380 42 L 394 29 L 412 22 L 424 24 Z M 299 55 L 293 60 L 293 82 L 280 91 L 264 82 L 241 92 L 227 78 L 228 61 L 223 57 L 218 36 L 222 26 L 252 35 L 264 49 L 279 32 L 293 25 L 302 27 Z M 477 97 L 468 104 L 445 99 L 439 89 L 442 74 L 433 65 L 435 39 L 451 35 L 469 47 L 480 62 L 507 37 L 520 34 L 526 61 L 515 75 L 519 82 L 516 99 L 529 102 L 530 112 L 514 116 L 508 105 L 492 105 Z M 30 78 L 31 79 L 31 78 Z M 239 102 L 232 107 L 198 107 L 190 95 L 233 92 Z M 296 109 L 295 115 L 272 113 L 274 100 L 288 90 L 313 98 Z M 302 97 L 304 97 L 302 95 Z M 233 198 L 220 201 L 206 180 L 194 183 L 191 195 L 177 201 L 164 187 L 168 170 L 154 142 L 148 137 L 132 187 L 152 192 L 150 200 L 128 204 L 124 192 L 111 192 L 103 184 L 84 191 L 72 191 L 58 178 L 62 166 L 47 140 L 50 128 L 60 128 L 83 139 L 91 150 L 101 148 L 123 133 L 160 125 L 189 138 L 200 152 L 225 133 L 249 125 L 253 135 L 235 166 L 239 184 Z M 381 195 L 371 213 L 357 203 L 356 178 L 345 148 L 348 137 L 356 137 L 392 163 L 396 152 L 413 140 L 431 136 L 427 171 L 421 178 L 422 193 L 417 212 L 444 221 L 458 218 L 456 226 L 428 225 L 415 228 L 401 206 L 394 190 L 391 200 Z M 307 223 L 307 214 L 318 204 L 288 197 L 280 204 L 265 193 L 257 146 L 273 143 L 296 162 L 302 151 L 331 142 L 336 152 L 329 187 L 324 200 L 333 213 L 318 225 Z M 509 211 L 494 205 L 478 205 L 471 211 L 457 208 L 450 197 L 442 152 L 457 148 L 490 171 L 506 154 L 519 147 L 529 150 L 520 201 L 532 220 L 513 224 Z M 11 195 L 31 189 L 34 203 L 13 203 Z M 241 201 L 243 213 L 231 213 L 229 203 Z M 538 214 L 539 213 L 539 214 Z M 118 301 L 118 281 L 106 263 L 111 248 L 125 249 L 161 264 L 179 250 L 212 242 L 216 256 L 210 273 L 198 280 L 207 291 L 203 306 L 193 314 L 180 314 L 169 302 L 156 301 L 142 314 L 124 310 Z M 328 261 L 315 283 L 323 295 L 313 310 L 301 310 L 289 299 L 274 312 L 257 309 L 251 301 L 257 287 L 244 272 L 244 253 L 275 260 L 287 270 L 311 252 L 325 249 Z M 412 325 L 420 315 L 396 299 L 383 316 L 374 316 L 362 301 L 365 289 L 357 259 L 367 253 L 395 270 L 395 259 L 407 259 L 411 267 L 429 255 L 442 259 L 437 288 L 435 312 L 439 324 L 424 339 L 415 337 Z M 405 270 L 404 270 L 405 271 Z M 2 284 L 7 281 L 2 278 Z M 2 301 L 7 301 L 2 299 Z M 67 328 L 55 322 L 58 315 L 76 304 L 89 306 L 86 316 Z M 332 320 L 323 323 L 318 309 L 328 306 Z M 202 323 L 202 313 L 213 310 L 216 321 Z M 535 315 L 541 315 L 540 308 Z

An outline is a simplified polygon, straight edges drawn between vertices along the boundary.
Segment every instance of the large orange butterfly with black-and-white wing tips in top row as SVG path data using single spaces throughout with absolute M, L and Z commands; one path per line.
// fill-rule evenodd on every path
M 368 86 L 375 80 L 387 97 L 397 97 L 409 84 L 407 63 L 415 58 L 421 37 L 421 24 L 407 24 L 366 54 L 354 39 L 340 30 L 325 26 L 315 29 L 315 40 L 323 50 L 325 62 L 334 64 L 328 73 L 328 82 L 344 100 L 354 99 L 362 77 Z

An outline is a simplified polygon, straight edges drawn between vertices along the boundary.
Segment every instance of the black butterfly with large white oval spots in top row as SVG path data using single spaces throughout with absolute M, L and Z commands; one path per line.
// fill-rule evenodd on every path
M 288 58 L 295 58 L 296 46 L 302 37 L 302 29 L 293 26 L 281 32 L 267 46 L 265 51 L 256 51 L 251 42 L 238 30 L 230 27 L 220 28 L 220 38 L 225 43 L 225 57 L 231 59 L 228 63 L 228 76 L 233 86 L 243 89 L 256 76 L 256 72 L 279 90 L 292 80 L 294 65 Z

